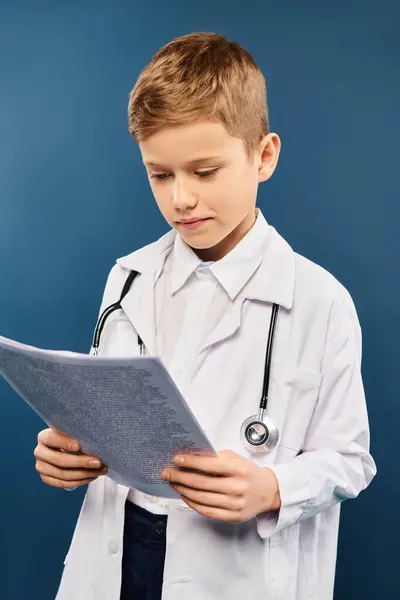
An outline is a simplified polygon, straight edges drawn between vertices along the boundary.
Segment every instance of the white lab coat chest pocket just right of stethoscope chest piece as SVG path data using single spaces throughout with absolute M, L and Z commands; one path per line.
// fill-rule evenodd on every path
M 315 371 L 284 363 L 271 367 L 268 414 L 280 432 L 278 448 L 291 451 L 289 460 L 303 448 L 321 381 L 322 374 Z

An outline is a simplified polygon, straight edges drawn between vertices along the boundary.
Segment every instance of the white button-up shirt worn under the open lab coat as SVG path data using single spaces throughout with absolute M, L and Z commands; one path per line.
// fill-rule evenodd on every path
M 155 285 L 156 347 L 183 397 L 201 367 L 198 348 L 258 268 L 267 232 L 266 221 L 256 219 L 233 250 L 207 263 L 176 236 Z M 165 498 L 131 489 L 128 500 L 156 514 L 168 513 Z

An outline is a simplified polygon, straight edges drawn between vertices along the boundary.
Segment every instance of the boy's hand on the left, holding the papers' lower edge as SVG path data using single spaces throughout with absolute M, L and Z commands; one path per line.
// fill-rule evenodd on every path
M 107 473 L 107 467 L 98 457 L 76 454 L 79 449 L 74 438 L 53 429 L 43 429 L 34 451 L 36 470 L 42 481 L 54 487 L 73 489 Z M 91 461 L 98 464 L 90 464 Z

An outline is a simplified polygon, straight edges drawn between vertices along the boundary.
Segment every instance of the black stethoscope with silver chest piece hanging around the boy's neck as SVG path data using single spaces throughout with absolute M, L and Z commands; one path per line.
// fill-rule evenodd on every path
M 133 280 L 135 279 L 137 271 L 131 271 L 125 281 L 124 287 L 121 292 L 121 297 L 117 302 L 110 304 L 107 308 L 103 310 L 101 313 L 99 320 L 97 322 L 94 335 L 93 335 L 93 354 L 97 356 L 100 345 L 100 337 L 101 333 L 104 329 L 104 325 L 108 319 L 108 317 L 115 310 L 122 309 L 121 302 L 130 290 Z M 278 317 L 279 306 L 278 304 L 273 304 L 271 320 L 269 325 L 269 333 L 268 333 L 268 342 L 267 342 L 267 351 L 265 358 L 265 370 L 264 370 L 264 382 L 263 382 L 263 390 L 260 402 L 260 408 L 258 415 L 251 415 L 248 417 L 240 428 L 240 439 L 242 441 L 243 446 L 254 454 L 266 454 L 275 448 L 278 443 L 279 433 L 278 428 L 274 421 L 268 417 L 265 413 L 267 410 L 267 402 L 268 402 L 268 389 L 269 389 L 269 380 L 270 380 L 270 371 L 271 371 L 271 356 L 272 356 L 272 346 L 276 329 L 276 321 Z M 144 354 L 144 344 L 143 340 L 138 334 L 138 344 L 140 348 L 140 354 Z

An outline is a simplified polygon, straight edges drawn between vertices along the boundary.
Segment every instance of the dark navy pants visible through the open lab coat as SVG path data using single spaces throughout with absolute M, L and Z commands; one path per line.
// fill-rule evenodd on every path
M 120 600 L 161 600 L 167 515 L 125 504 Z

